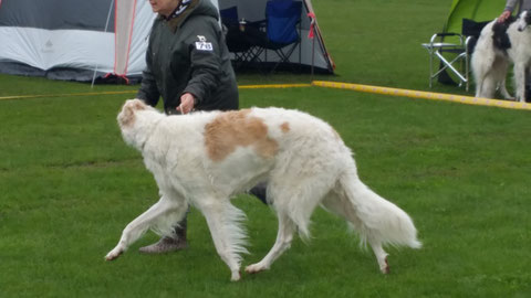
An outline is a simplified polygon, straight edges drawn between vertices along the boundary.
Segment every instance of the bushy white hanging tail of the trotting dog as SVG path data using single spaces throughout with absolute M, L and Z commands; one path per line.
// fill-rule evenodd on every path
M 375 245 L 385 244 L 412 248 L 421 246 L 409 215 L 372 191 L 357 178 L 357 174 L 345 174 L 340 183 L 346 199 L 354 207 L 351 212 L 354 214 L 350 214 L 348 219 L 360 232 L 364 243 L 368 242 L 373 249 Z

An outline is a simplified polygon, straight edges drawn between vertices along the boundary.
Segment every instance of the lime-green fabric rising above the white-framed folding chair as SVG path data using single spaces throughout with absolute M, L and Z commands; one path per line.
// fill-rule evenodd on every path
M 444 32 L 461 33 L 462 19 L 490 21 L 501 14 L 504 0 L 454 0 Z

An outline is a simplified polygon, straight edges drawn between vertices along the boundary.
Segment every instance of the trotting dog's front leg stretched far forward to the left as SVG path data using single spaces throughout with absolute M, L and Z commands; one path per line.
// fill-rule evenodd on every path
M 186 207 L 180 206 L 180 209 L 183 209 L 181 213 L 184 215 Z M 166 196 L 160 198 L 156 204 L 150 206 L 146 212 L 140 214 L 124 228 L 118 244 L 105 256 L 105 259 L 116 259 L 119 255 L 127 251 L 131 244 L 137 241 L 149 227 L 153 226 L 153 223 L 157 217 L 170 212 L 175 212 L 176 210 L 179 210 L 178 202 L 166 199 Z

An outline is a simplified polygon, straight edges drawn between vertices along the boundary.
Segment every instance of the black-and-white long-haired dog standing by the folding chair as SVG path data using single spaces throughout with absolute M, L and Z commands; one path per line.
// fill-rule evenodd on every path
M 476 97 L 493 98 L 500 88 L 506 99 L 506 76 L 509 63 L 514 64 L 516 99 L 525 102 L 525 74 L 531 63 L 531 12 L 524 11 L 507 31 L 497 20 L 488 23 L 479 36 L 472 53 L 471 68 L 476 79 Z

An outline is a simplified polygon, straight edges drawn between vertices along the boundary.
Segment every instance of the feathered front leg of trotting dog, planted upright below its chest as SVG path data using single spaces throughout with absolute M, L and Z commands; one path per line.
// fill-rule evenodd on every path
M 247 234 L 239 224 L 246 215 L 228 201 L 201 200 L 198 207 L 207 220 L 218 255 L 230 269 L 230 280 L 239 280 L 240 254 L 248 253 L 244 248 Z

